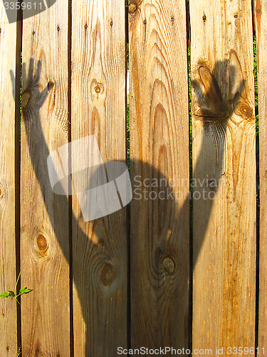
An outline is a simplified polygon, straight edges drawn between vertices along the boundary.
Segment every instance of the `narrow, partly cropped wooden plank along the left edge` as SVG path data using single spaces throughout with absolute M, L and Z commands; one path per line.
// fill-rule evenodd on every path
M 15 243 L 15 79 L 16 23 L 9 24 L 0 4 L 0 293 L 16 283 Z M 16 301 L 0 301 L 0 355 L 16 356 Z

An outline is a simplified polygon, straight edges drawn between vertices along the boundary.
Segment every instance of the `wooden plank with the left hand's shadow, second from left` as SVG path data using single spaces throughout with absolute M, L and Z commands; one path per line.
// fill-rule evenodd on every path
M 33 289 L 21 301 L 22 355 L 69 356 L 68 198 L 47 166 L 68 142 L 66 1 L 23 21 L 22 59 L 21 284 Z

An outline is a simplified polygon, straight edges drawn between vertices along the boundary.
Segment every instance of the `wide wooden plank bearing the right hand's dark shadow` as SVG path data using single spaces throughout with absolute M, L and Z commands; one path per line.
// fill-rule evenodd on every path
M 190 0 L 193 349 L 255 342 L 256 158 L 251 1 Z M 201 193 L 199 196 L 199 192 Z

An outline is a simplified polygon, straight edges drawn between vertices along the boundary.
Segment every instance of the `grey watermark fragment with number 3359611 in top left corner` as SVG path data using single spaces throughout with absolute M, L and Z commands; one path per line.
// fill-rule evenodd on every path
M 6 11 L 6 23 L 9 24 L 40 14 L 41 12 L 49 9 L 55 3 L 56 0 L 2 1 Z

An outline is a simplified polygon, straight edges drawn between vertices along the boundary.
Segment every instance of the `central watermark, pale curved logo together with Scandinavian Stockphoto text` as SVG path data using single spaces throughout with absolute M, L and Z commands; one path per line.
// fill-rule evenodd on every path
M 219 182 L 204 179 L 172 180 L 155 169 L 155 176 L 132 177 L 122 161 L 104 163 L 94 135 L 71 141 L 51 152 L 47 159 L 52 191 L 75 195 L 84 221 L 108 216 L 133 200 L 213 200 Z M 151 173 L 150 173 L 151 174 Z M 192 191 L 189 191 L 189 186 Z

